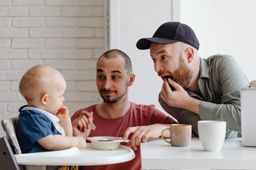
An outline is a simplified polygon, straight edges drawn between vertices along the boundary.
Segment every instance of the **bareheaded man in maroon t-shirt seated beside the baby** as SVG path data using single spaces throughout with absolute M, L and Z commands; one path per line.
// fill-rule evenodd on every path
M 131 139 L 127 146 L 132 147 L 135 158 L 131 161 L 110 165 L 82 166 L 79 169 L 141 169 L 140 142 L 157 138 L 169 124 L 176 124 L 154 105 L 140 105 L 128 99 L 129 87 L 135 75 L 129 56 L 114 49 L 105 52 L 97 62 L 96 84 L 103 102 L 78 110 L 72 117 L 73 135 L 117 136 Z M 88 118 L 97 127 L 92 131 Z M 169 133 L 165 134 L 169 137 Z

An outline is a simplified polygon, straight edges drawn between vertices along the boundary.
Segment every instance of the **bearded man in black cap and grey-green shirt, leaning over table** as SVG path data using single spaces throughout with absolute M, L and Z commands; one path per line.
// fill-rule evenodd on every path
M 142 38 L 136 46 L 150 49 L 164 81 L 159 103 L 166 112 L 179 123 L 191 124 L 196 134 L 198 120 L 225 120 L 226 138 L 241 137 L 240 90 L 249 82 L 234 58 L 200 58 L 196 34 L 180 22 L 163 23 L 152 38 Z

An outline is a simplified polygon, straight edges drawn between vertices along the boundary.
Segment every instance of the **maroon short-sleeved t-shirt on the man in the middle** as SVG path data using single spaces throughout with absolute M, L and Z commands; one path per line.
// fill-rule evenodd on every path
M 108 119 L 100 117 L 96 112 L 96 105 L 88 108 L 80 109 L 71 117 L 73 121 L 80 116 L 82 111 L 93 112 L 93 124 L 97 127 L 96 131 L 91 131 L 89 137 L 93 136 L 117 136 L 123 137 L 125 130 L 128 127 L 147 126 L 153 124 L 176 124 L 174 119 L 170 118 L 160 110 L 155 108 L 155 105 L 138 105 L 130 102 L 129 110 L 118 118 Z M 132 134 L 129 135 L 131 139 Z M 125 143 L 122 143 L 125 144 Z M 97 165 L 97 166 L 81 166 L 79 169 L 141 169 L 140 147 L 135 152 L 135 158 L 128 162 Z

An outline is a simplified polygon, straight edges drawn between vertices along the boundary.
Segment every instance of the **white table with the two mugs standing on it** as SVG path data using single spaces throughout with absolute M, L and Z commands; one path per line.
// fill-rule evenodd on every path
M 256 147 L 243 147 L 241 138 L 225 139 L 220 152 L 206 152 L 199 138 L 189 147 L 171 147 L 161 138 L 141 143 L 142 169 L 256 169 Z

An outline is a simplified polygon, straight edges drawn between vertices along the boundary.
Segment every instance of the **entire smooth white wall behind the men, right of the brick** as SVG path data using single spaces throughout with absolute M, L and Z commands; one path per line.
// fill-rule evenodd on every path
M 136 48 L 140 38 L 152 37 L 166 21 L 181 21 L 193 28 L 202 58 L 220 53 L 239 62 L 249 81 L 256 79 L 256 1 L 253 0 L 111 0 L 110 48 L 120 48 L 132 59 L 136 80 L 130 100 L 158 103 L 162 80 L 154 71 L 149 50 Z M 180 6 L 180 7 L 179 7 Z M 172 14 L 176 14 L 172 16 Z

